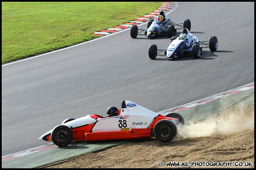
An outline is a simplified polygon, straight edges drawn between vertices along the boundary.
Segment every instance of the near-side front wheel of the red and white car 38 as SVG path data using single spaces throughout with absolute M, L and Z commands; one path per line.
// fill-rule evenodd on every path
M 68 126 L 55 126 L 51 133 L 52 141 L 55 145 L 63 147 L 69 145 L 72 141 L 73 133 Z

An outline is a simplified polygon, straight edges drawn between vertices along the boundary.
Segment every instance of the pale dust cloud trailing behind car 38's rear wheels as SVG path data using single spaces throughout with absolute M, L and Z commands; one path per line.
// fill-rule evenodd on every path
M 236 109 L 213 115 L 197 123 L 183 125 L 178 129 L 179 138 L 211 137 L 230 135 L 254 129 L 254 105 L 249 109 Z

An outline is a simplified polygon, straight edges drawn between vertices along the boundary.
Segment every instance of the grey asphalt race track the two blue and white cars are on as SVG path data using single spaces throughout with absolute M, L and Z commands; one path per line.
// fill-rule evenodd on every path
M 175 4 L 172 21 L 189 18 L 199 40 L 217 36 L 216 52 L 150 60 L 149 45 L 170 40 L 132 39 L 127 29 L 2 66 L 2 156 L 49 144 L 38 137 L 64 119 L 106 115 L 122 100 L 161 112 L 254 82 L 254 2 Z

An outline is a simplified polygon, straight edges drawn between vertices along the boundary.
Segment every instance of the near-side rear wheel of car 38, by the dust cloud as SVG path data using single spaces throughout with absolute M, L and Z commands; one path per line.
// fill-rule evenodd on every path
M 158 141 L 166 143 L 176 137 L 177 127 L 171 120 L 162 119 L 155 124 L 153 133 Z

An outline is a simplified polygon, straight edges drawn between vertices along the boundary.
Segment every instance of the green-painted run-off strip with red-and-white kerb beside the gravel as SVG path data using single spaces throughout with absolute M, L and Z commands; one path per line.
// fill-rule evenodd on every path
M 185 120 L 185 124 L 196 123 L 214 113 L 225 113 L 225 108 L 237 108 L 254 104 L 254 83 L 241 86 L 221 94 L 209 96 L 198 101 L 184 104 L 175 108 L 159 112 L 165 115 L 169 112 L 178 112 Z M 223 111 L 223 112 L 220 112 Z M 133 140 L 113 140 L 99 142 L 71 142 L 66 147 L 58 147 L 53 143 L 28 149 L 2 157 L 2 168 L 37 168 L 59 161 L 68 161 L 69 158 L 85 153 L 122 145 Z

